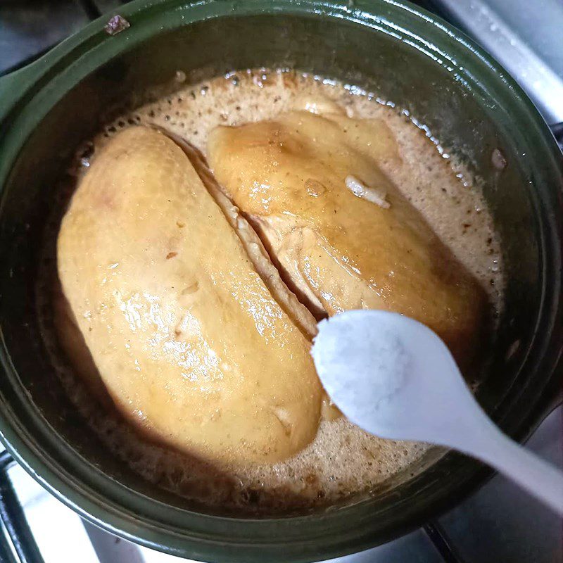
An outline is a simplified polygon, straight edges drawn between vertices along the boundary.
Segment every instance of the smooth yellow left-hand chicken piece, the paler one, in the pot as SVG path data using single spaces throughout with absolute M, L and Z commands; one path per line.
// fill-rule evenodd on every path
M 277 295 L 283 282 L 260 266 L 260 241 L 225 201 L 179 144 L 130 127 L 72 198 L 58 273 L 130 422 L 203 460 L 276 462 L 317 432 L 322 388 L 303 329 L 314 324 Z

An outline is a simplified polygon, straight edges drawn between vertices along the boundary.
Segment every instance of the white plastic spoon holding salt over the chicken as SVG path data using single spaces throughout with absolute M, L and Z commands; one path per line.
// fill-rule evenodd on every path
M 392 312 L 343 312 L 319 323 L 312 357 L 331 399 L 362 429 L 476 457 L 563 515 L 563 472 L 502 434 L 424 324 Z

